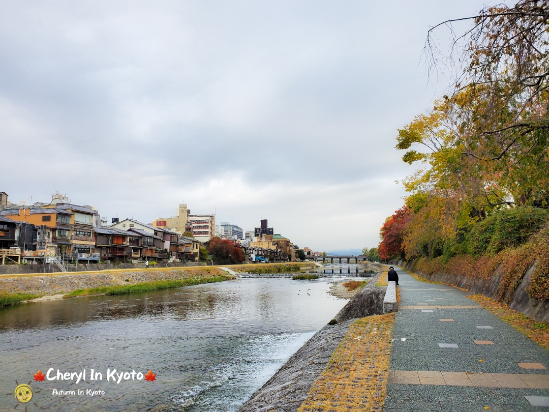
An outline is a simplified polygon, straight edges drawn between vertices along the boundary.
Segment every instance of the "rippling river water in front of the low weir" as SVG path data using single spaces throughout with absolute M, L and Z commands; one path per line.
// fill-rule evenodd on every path
M 18 404 L 16 381 L 53 368 L 48 377 L 86 369 L 86 381 L 32 381 L 31 402 L 16 410 L 236 411 L 345 305 L 329 282 L 238 279 L 2 308 L 0 410 Z M 107 382 L 108 369 L 152 370 L 156 380 Z

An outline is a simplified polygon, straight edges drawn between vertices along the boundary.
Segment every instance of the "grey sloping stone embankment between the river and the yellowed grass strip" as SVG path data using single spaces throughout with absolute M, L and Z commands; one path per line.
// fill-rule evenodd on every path
M 309 339 L 254 393 L 240 412 L 296 411 L 307 399 L 318 377 L 326 370 L 334 350 L 343 341 L 352 322 L 357 318 L 383 314 L 386 287 L 376 287 L 379 276 L 383 274 L 384 272 L 372 277 L 335 316 L 337 324 L 324 326 Z

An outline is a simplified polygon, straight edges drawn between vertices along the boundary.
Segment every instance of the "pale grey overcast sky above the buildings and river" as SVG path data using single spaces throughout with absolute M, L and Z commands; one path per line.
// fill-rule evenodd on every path
M 150 222 L 186 201 L 313 250 L 373 247 L 411 166 L 396 129 L 463 1 L 0 2 L 0 191 Z M 440 32 L 441 41 L 448 33 Z

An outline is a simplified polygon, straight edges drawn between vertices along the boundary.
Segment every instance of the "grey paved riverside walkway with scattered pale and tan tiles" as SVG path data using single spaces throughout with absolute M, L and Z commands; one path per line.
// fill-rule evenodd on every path
M 549 410 L 548 350 L 467 292 L 398 272 L 385 412 Z

